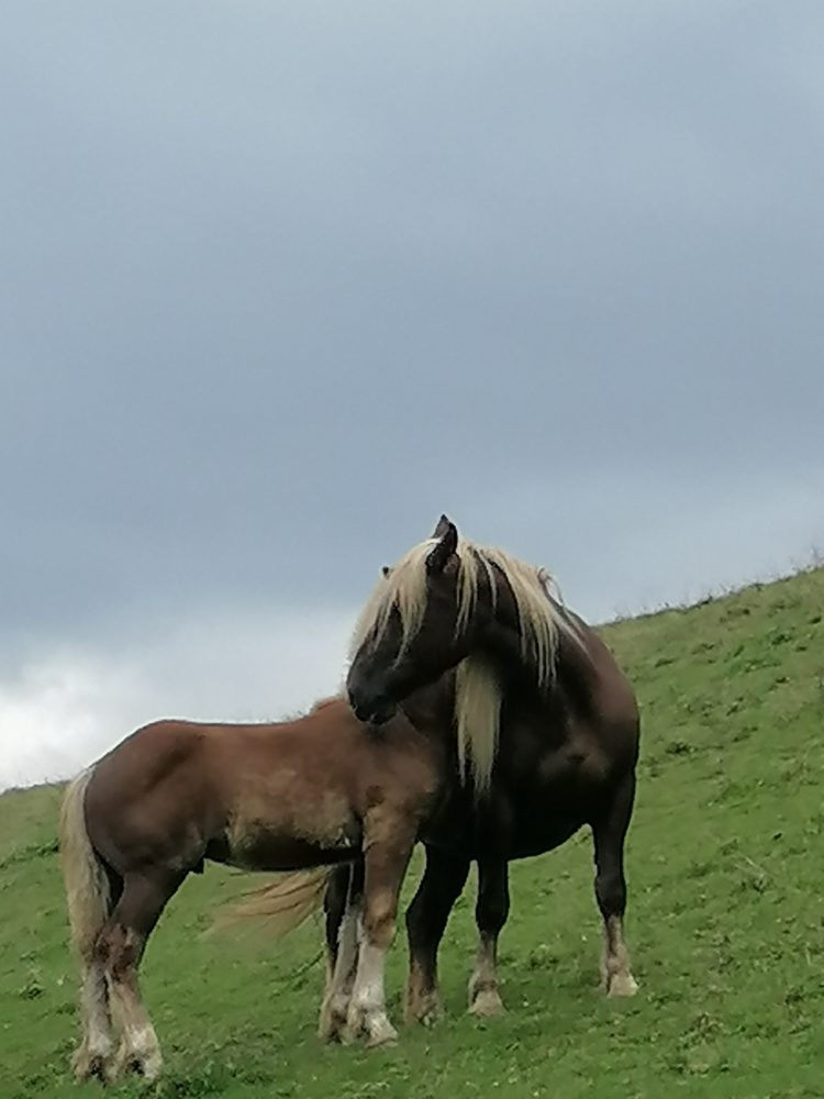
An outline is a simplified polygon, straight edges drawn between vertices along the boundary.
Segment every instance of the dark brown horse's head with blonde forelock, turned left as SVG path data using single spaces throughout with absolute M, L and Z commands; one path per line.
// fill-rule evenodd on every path
M 471 553 L 442 515 L 431 539 L 383 568 L 346 678 L 361 721 L 388 721 L 399 702 L 478 645 L 493 617 L 493 592 L 487 569 L 466 567 Z

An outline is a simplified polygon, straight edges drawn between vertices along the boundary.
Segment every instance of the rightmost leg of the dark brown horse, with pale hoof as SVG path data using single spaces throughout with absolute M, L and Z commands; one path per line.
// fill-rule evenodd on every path
M 608 996 L 634 996 L 638 986 L 630 969 L 624 943 L 626 880 L 624 839 L 635 798 L 635 774 L 630 773 L 616 788 L 606 811 L 592 824 L 595 845 L 595 898 L 604 923 L 604 953 L 601 980 Z

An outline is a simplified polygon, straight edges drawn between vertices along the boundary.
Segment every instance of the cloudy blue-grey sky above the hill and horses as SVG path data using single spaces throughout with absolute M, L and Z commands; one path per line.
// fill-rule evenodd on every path
M 447 512 L 590 620 L 824 547 L 824 5 L 13 0 L 0 788 L 336 690 Z

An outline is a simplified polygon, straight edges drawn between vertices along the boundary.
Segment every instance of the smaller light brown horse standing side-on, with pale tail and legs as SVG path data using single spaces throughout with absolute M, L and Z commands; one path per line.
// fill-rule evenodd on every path
M 204 859 L 276 872 L 355 863 L 322 1031 L 393 1040 L 386 953 L 415 837 L 437 809 L 450 735 L 424 707 L 414 723 L 399 714 L 374 736 L 337 698 L 279 724 L 157 722 L 79 775 L 60 820 L 82 968 L 77 1075 L 159 1072 L 137 969 L 169 898 Z M 320 903 L 325 881 L 325 872 L 287 878 L 267 890 L 267 907 L 291 910 L 294 924 Z

